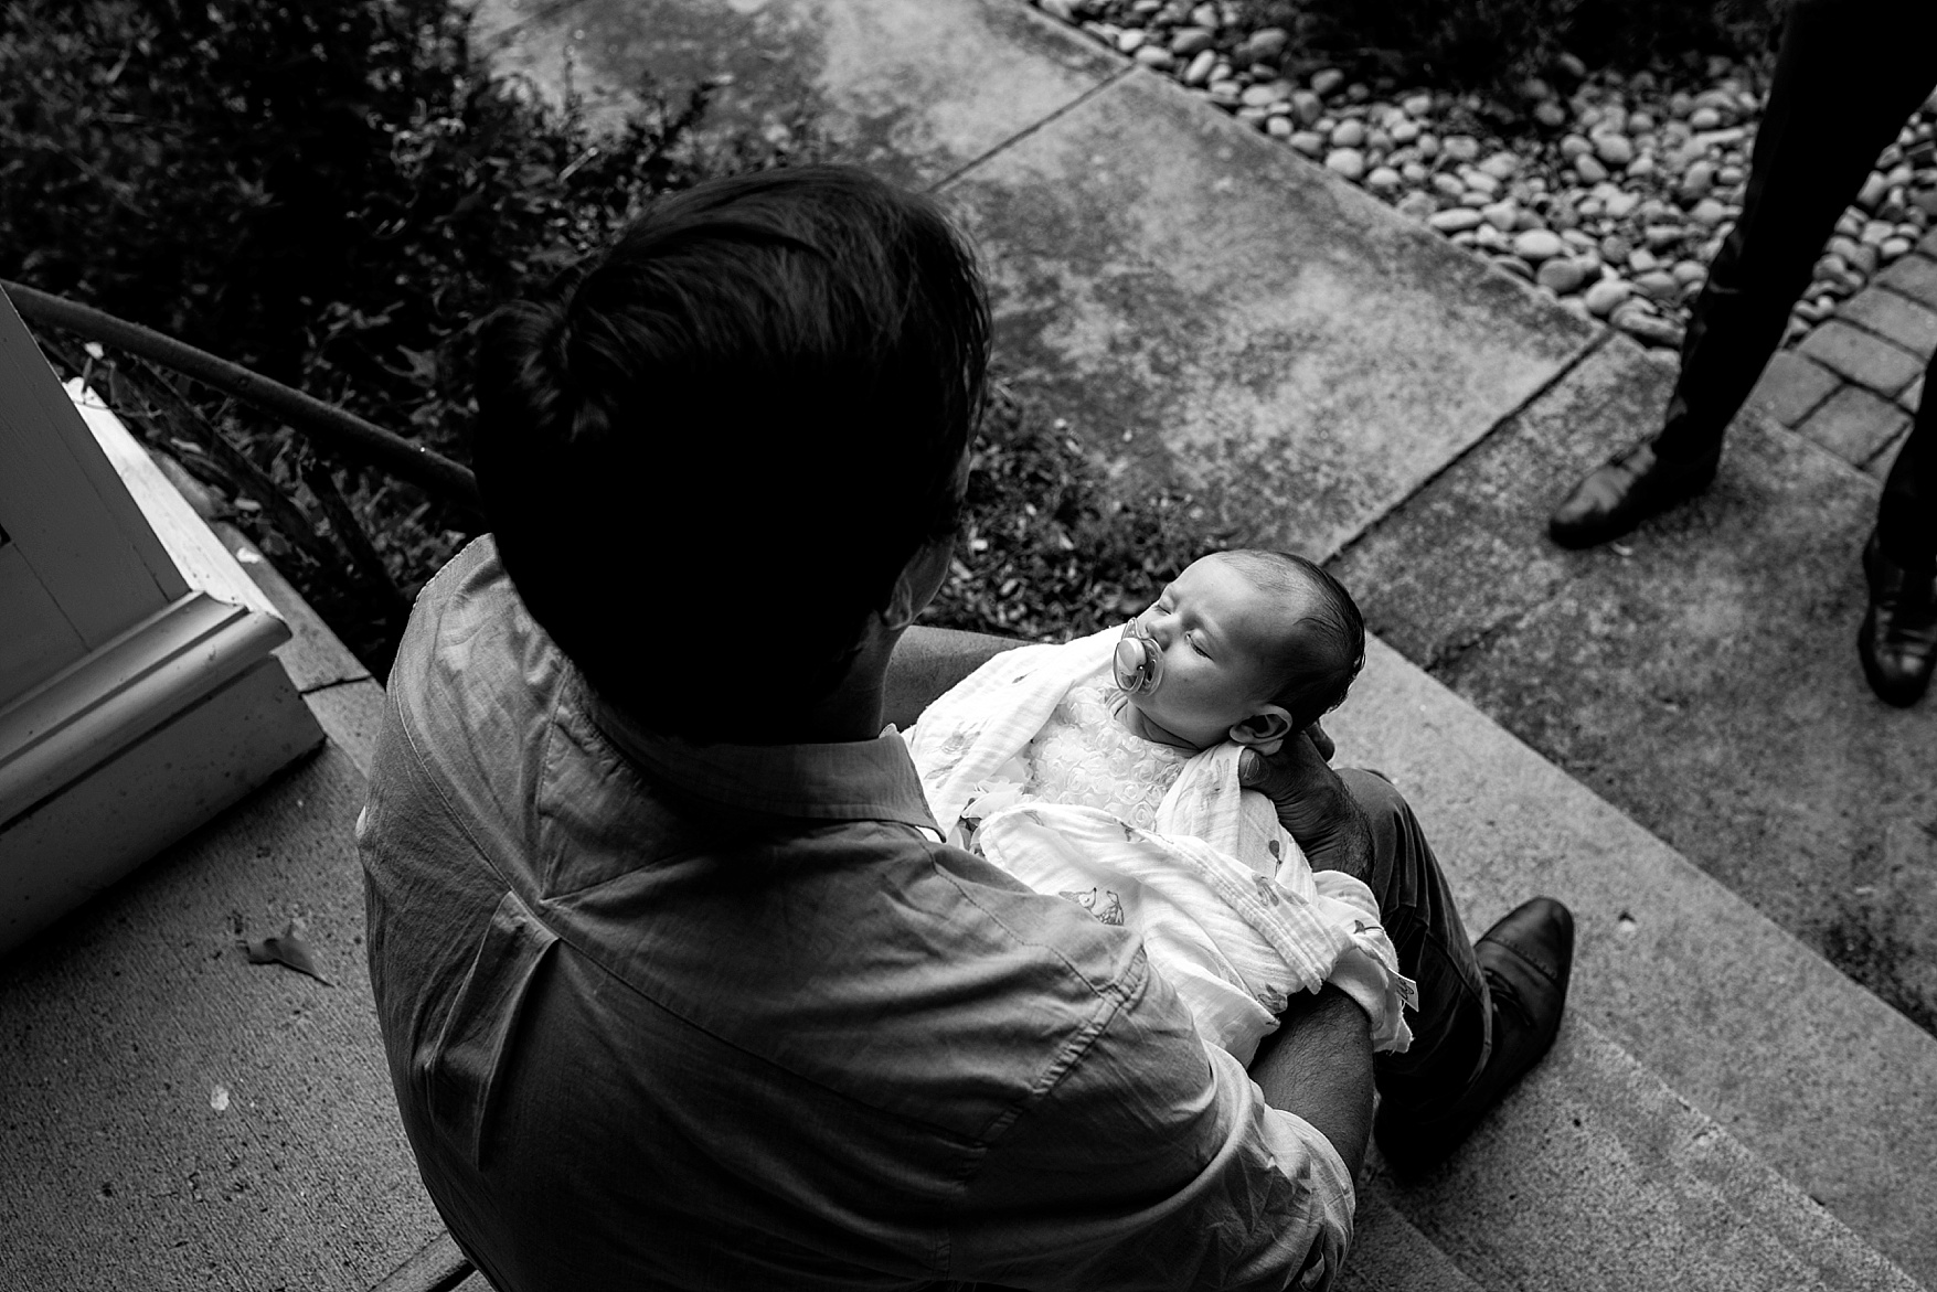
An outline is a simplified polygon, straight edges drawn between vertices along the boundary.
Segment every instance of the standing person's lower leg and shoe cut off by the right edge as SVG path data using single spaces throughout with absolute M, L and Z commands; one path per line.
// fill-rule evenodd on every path
M 1863 550 L 1869 612 L 1856 653 L 1869 688 L 1892 705 L 1914 705 L 1937 666 L 1937 356 L 1910 438 L 1896 451 L 1877 506 L 1877 533 Z

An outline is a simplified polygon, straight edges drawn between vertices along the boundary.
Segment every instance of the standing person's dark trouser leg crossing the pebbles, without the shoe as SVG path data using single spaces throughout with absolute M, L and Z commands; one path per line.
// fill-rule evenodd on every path
M 1836 219 L 1933 81 L 1937 6 L 1794 0 L 1741 219 L 1708 267 L 1681 345 L 1656 440 L 1664 459 L 1703 457 L 1722 442 Z

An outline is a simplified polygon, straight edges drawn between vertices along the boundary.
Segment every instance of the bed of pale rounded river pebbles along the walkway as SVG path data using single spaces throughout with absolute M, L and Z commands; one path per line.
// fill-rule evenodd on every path
M 1643 345 L 1676 347 L 1741 213 L 1767 66 L 1592 72 L 1563 54 L 1490 105 L 1356 83 L 1230 0 L 1032 0 L 1490 263 Z M 1679 77 L 1681 74 L 1677 74 Z M 1559 89 L 1563 85 L 1565 89 Z M 1519 122 L 1519 124 L 1513 124 Z M 1796 343 L 1937 223 L 1937 101 L 1883 149 L 1796 306 Z

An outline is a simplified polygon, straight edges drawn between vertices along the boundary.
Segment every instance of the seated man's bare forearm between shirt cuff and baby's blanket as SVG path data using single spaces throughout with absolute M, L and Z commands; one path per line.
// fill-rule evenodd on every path
M 1329 982 L 1298 994 L 1259 1044 L 1251 1079 L 1267 1104 L 1317 1127 L 1358 1178 L 1371 1137 L 1371 1023 L 1350 996 Z

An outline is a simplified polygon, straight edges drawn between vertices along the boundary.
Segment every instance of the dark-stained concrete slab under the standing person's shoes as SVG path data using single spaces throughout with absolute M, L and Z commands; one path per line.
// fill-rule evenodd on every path
M 1875 482 L 1759 416 L 1703 498 L 1563 552 L 1553 498 L 1656 424 L 1666 374 L 1608 347 L 1338 564 L 1375 631 L 1772 920 L 1836 955 L 1887 831 L 1937 827 L 1937 715 L 1863 684 Z M 1923 947 L 1925 955 L 1937 945 Z M 1879 965 L 1852 972 L 1925 1023 Z

